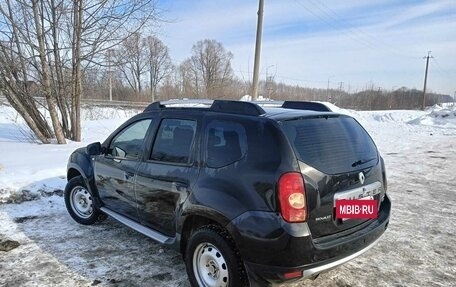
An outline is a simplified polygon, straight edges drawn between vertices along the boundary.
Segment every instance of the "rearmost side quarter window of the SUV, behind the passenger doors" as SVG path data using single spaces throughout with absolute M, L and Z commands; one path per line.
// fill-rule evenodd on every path
M 247 152 L 245 128 L 239 123 L 214 120 L 206 128 L 206 164 L 219 168 L 240 160 Z

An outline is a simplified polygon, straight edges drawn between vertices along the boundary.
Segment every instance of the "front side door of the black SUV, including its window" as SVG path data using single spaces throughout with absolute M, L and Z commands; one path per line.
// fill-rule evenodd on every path
M 144 139 L 152 119 L 140 119 L 120 130 L 107 152 L 95 158 L 95 183 L 102 204 L 138 221 L 135 172 L 145 150 Z

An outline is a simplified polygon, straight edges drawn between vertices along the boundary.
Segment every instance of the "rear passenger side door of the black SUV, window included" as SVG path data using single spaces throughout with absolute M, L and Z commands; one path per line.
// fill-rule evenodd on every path
M 198 176 L 197 150 L 200 119 L 163 118 L 150 156 L 138 166 L 136 196 L 141 224 L 168 236 L 176 232 L 179 206 Z

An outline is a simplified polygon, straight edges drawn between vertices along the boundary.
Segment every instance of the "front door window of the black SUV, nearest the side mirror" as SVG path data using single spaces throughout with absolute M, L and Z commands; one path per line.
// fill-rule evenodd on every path
M 109 145 L 108 154 L 114 157 L 138 159 L 151 119 L 135 122 L 119 132 Z

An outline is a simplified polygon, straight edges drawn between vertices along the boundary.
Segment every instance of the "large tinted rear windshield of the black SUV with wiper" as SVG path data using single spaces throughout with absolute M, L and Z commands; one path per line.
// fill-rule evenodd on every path
M 283 130 L 299 160 L 326 174 L 356 171 L 377 163 L 374 142 L 353 118 L 284 121 Z

